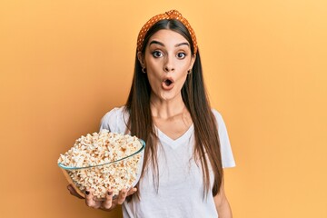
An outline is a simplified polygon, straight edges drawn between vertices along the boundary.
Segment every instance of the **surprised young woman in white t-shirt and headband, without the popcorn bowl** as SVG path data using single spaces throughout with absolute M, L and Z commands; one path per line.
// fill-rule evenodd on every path
M 110 211 L 123 204 L 124 217 L 232 217 L 223 189 L 232 149 L 205 93 L 193 28 L 178 11 L 141 29 L 127 103 L 105 114 L 101 128 L 144 139 L 144 168 L 136 187 L 117 198 L 108 190 L 105 201 L 94 201 L 87 190 L 88 206 Z

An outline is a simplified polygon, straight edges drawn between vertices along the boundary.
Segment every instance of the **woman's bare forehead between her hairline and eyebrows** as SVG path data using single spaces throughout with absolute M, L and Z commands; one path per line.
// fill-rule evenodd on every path
M 183 37 L 183 35 L 180 35 L 177 32 L 174 32 L 173 30 L 167 30 L 162 29 L 156 32 L 154 35 L 152 35 L 149 39 L 149 43 L 152 41 L 159 41 L 162 42 L 164 45 L 166 44 L 180 44 L 187 42 L 186 38 Z

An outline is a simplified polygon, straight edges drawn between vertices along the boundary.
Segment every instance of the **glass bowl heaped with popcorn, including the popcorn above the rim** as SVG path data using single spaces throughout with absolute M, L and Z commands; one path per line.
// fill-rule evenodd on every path
M 136 136 L 102 130 L 78 138 L 60 154 L 58 165 L 77 193 L 84 196 L 86 189 L 92 189 L 96 198 L 104 199 L 108 189 L 116 195 L 138 183 L 144 148 L 144 141 Z

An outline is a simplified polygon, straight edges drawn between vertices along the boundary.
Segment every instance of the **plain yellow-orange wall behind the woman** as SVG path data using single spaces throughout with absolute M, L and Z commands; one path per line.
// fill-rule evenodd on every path
M 325 0 L 2 0 L 1 217 L 121 216 L 70 196 L 56 161 L 125 103 L 138 31 L 173 8 L 228 127 L 234 217 L 327 217 Z

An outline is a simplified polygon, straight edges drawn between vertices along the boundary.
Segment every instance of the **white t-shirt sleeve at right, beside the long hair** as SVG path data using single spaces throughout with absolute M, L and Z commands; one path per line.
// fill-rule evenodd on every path
M 234 167 L 235 161 L 233 158 L 233 151 L 228 137 L 226 125 L 223 122 L 223 116 L 214 109 L 213 114 L 218 124 L 218 134 L 221 144 L 223 168 Z

